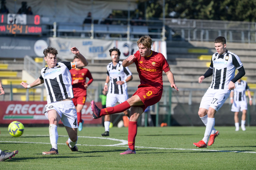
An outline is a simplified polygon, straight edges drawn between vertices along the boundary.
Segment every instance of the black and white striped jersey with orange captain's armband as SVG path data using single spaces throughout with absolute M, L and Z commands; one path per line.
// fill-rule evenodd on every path
M 39 79 L 44 80 L 47 103 L 66 98 L 74 98 L 70 69 L 76 68 L 76 62 L 61 61 L 54 68 L 43 67 Z

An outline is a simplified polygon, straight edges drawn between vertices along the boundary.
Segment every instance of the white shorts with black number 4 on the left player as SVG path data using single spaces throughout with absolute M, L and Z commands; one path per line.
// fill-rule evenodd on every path
M 56 110 L 60 115 L 60 120 L 64 126 L 71 128 L 78 128 L 77 124 L 77 110 L 73 101 L 55 101 L 47 104 L 45 116 L 48 119 L 48 111 Z

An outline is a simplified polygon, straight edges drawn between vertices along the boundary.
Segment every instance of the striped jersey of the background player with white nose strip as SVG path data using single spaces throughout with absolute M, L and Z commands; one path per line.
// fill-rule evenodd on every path
M 113 65 L 113 62 L 109 63 L 107 66 L 107 75 L 109 76 L 109 91 L 111 94 L 126 94 L 127 93 L 127 84 L 117 85 L 117 81 L 123 81 L 128 76 L 132 75 L 132 72 L 128 67 L 122 66 L 122 61 L 118 61 L 116 66 Z

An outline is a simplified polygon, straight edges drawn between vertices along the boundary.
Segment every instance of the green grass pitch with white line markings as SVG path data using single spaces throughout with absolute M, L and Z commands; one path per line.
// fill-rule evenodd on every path
M 19 150 L 0 169 L 256 169 L 256 127 L 236 132 L 235 127 L 216 127 L 220 135 L 212 146 L 197 148 L 205 127 L 138 127 L 136 154 L 127 149 L 128 128 L 84 127 L 78 132 L 78 152 L 66 145 L 64 127 L 58 127 L 59 155 L 42 155 L 51 148 L 48 127 L 25 127 L 15 138 L 0 127 L 0 149 Z

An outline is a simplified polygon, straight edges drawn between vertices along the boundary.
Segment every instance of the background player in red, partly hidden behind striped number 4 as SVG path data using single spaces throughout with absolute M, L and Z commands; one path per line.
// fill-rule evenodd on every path
M 75 61 L 80 61 L 77 56 L 74 56 L 73 62 Z M 93 78 L 90 71 L 86 68 L 78 67 L 76 69 L 71 69 L 69 71 L 71 73 L 72 87 L 74 93 L 74 98 L 72 98 L 72 100 L 77 109 L 78 130 L 81 131 L 83 129 L 81 111 L 86 101 L 86 89 L 92 83 Z M 89 81 L 87 83 L 86 77 L 89 78 Z

